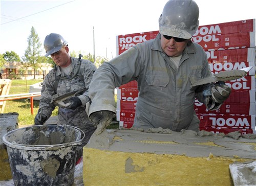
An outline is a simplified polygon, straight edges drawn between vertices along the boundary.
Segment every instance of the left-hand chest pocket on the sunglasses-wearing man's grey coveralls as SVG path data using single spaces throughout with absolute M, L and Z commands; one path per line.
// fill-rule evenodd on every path
M 145 99 L 149 104 L 162 108 L 168 97 L 169 77 L 165 75 L 146 75 Z

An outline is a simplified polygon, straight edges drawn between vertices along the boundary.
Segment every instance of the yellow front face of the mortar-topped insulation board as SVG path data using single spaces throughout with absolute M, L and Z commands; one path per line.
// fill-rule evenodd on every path
M 128 153 L 84 148 L 84 185 L 233 185 L 225 157 Z

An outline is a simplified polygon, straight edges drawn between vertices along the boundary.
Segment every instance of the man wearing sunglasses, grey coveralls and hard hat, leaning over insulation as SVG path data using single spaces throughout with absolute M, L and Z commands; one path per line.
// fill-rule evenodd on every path
M 194 1 L 168 1 L 155 39 L 135 45 L 97 69 L 89 88 L 89 117 L 96 126 L 112 120 L 114 88 L 136 80 L 139 95 L 133 127 L 199 130 L 195 98 L 208 109 L 218 109 L 231 88 L 220 84 L 191 86 L 211 76 L 204 50 L 190 40 L 199 27 L 198 17 Z

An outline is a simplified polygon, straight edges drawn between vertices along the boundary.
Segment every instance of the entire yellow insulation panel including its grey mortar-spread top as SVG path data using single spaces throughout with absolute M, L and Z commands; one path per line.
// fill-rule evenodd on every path
M 229 165 L 256 159 L 255 134 L 151 132 L 93 135 L 83 148 L 84 185 L 233 185 Z

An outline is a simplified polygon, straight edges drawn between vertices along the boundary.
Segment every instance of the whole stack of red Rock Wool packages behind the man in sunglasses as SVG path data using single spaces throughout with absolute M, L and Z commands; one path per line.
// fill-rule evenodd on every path
M 158 32 L 117 36 L 117 55 L 137 43 L 155 38 Z M 209 111 L 203 103 L 195 100 L 200 130 L 255 133 L 255 19 L 200 26 L 191 40 L 205 50 L 212 74 L 252 66 L 247 76 L 226 81 L 232 93 L 220 109 Z M 117 88 L 117 120 L 120 127 L 132 127 L 137 98 L 136 81 Z

